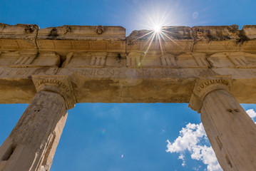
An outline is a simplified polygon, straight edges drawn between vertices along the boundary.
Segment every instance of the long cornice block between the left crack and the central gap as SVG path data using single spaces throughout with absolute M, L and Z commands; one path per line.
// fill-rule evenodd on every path
M 39 29 L 36 43 L 41 51 L 125 52 L 126 30 L 121 26 L 59 26 Z

